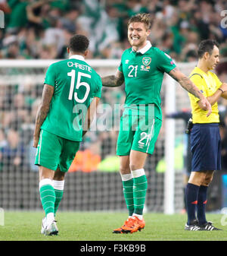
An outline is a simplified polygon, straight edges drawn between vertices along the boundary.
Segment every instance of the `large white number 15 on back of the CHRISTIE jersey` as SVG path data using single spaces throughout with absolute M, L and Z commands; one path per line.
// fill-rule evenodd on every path
M 71 83 L 70 83 L 70 94 L 68 99 L 72 100 L 73 99 L 73 89 L 75 86 L 75 75 L 76 75 L 76 71 L 73 69 L 72 71 L 68 72 L 67 75 L 69 77 L 71 77 Z M 81 82 L 81 77 L 89 77 L 91 78 L 90 74 L 85 74 L 82 72 L 78 72 L 77 74 L 77 81 L 76 81 L 76 89 L 79 89 L 79 87 L 84 86 L 86 87 L 86 93 L 84 95 L 84 97 L 82 99 L 79 99 L 77 96 L 77 93 L 74 93 L 74 99 L 76 100 L 76 102 L 78 103 L 84 103 L 87 100 L 87 97 L 89 96 L 89 92 L 90 92 L 90 86 L 88 83 L 86 82 Z

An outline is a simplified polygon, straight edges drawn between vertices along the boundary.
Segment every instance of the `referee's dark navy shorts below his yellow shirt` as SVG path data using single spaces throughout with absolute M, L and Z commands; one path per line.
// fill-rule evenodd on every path
M 221 137 L 218 123 L 193 125 L 191 153 L 191 172 L 221 169 Z

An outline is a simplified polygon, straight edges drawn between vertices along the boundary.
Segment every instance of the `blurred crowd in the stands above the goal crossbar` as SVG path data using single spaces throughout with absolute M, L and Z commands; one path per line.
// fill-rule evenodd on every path
M 66 58 L 70 36 L 89 37 L 89 58 L 120 58 L 129 47 L 127 21 L 151 14 L 150 40 L 179 62 L 197 57 L 197 44 L 216 39 L 226 54 L 224 0 L 1 0 L 5 29 L 0 58 Z

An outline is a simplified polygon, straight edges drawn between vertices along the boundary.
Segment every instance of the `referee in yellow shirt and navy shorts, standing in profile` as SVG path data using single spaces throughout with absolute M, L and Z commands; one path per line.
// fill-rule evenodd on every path
M 201 101 L 188 93 L 191 102 L 193 128 L 191 129 L 191 175 L 186 188 L 188 222 L 185 230 L 220 230 L 206 220 L 207 188 L 213 172 L 221 169 L 221 139 L 219 134 L 219 97 L 227 99 L 227 84 L 211 70 L 219 63 L 219 45 L 204 40 L 198 46 L 197 67 L 190 74 L 191 81 L 207 97 L 212 113 L 201 106 Z M 196 214 L 197 212 L 197 214 Z M 196 216 L 197 215 L 197 216 Z

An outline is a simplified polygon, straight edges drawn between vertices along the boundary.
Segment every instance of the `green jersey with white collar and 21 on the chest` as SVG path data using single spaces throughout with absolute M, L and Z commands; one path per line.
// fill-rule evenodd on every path
M 154 115 L 162 119 L 160 90 L 164 73 L 176 68 L 172 58 L 156 47 L 147 45 L 139 52 L 132 48 L 123 52 L 118 68 L 125 79 L 125 108 L 153 104 Z

